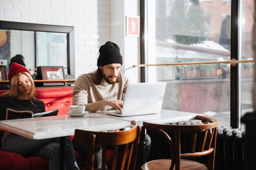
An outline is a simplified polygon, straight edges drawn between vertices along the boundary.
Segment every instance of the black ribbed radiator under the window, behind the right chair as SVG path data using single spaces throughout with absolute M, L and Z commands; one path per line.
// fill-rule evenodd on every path
M 175 122 L 172 124 L 194 124 L 192 121 Z M 148 155 L 148 160 L 155 159 L 169 159 L 171 152 L 169 145 L 161 134 L 146 130 L 151 137 L 151 148 Z M 173 132 L 166 131 L 170 137 L 173 137 Z M 186 152 L 190 149 L 190 133 L 181 132 L 181 152 Z M 200 132 L 199 132 L 200 133 Z M 200 134 L 198 134 L 200 137 Z M 231 127 L 218 126 L 217 140 L 216 140 L 216 156 L 215 156 L 215 170 L 244 170 L 244 141 L 245 130 L 232 129 Z M 184 145 L 185 144 L 185 145 Z M 206 157 L 193 159 L 201 163 L 206 163 Z

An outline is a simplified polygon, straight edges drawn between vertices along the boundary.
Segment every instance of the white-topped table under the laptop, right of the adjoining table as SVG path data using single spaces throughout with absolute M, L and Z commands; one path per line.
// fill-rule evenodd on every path
M 159 114 L 151 114 L 151 115 L 138 115 L 138 116 L 127 116 L 127 117 L 119 117 L 115 115 L 108 115 L 108 113 L 115 112 L 115 110 L 108 110 L 108 111 L 98 111 L 92 112 L 93 115 L 104 116 L 113 119 L 119 119 L 124 121 L 137 121 L 137 124 L 141 126 L 141 136 L 140 136 L 140 144 L 143 146 L 141 147 L 141 155 L 138 155 L 139 167 L 146 163 L 146 156 L 145 156 L 145 128 L 143 127 L 143 121 L 150 121 L 153 123 L 159 124 L 167 124 L 173 123 L 178 121 L 188 121 L 195 119 L 196 115 L 202 115 L 199 113 L 189 113 L 189 112 L 181 112 L 175 110 L 166 110 L 162 109 L 161 113 Z M 139 152 L 138 152 L 139 153 Z M 139 158 L 143 158 L 143 160 L 139 160 Z M 137 167 L 139 169 L 139 167 Z

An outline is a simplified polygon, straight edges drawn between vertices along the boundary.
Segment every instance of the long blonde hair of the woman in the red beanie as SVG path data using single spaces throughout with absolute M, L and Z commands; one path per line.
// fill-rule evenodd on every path
M 27 72 L 20 72 L 20 73 L 17 73 L 16 75 L 13 75 L 13 77 L 11 78 L 10 90 L 7 91 L 6 93 L 3 93 L 1 96 L 11 97 L 11 98 L 18 97 L 18 77 L 20 75 L 22 75 L 22 74 L 27 76 L 27 78 L 29 78 L 29 82 L 31 83 L 31 88 L 30 88 L 30 91 L 28 93 L 28 98 L 29 98 L 29 100 L 31 102 L 31 99 L 34 98 L 35 95 L 36 95 L 36 91 L 35 91 L 34 81 L 33 81 L 32 77 L 31 77 L 31 75 L 29 73 L 27 73 Z

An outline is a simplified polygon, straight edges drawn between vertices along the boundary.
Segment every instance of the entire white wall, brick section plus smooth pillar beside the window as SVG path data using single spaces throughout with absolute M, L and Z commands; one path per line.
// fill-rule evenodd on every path
M 97 68 L 99 47 L 119 45 L 124 72 L 137 82 L 139 38 L 126 37 L 125 16 L 139 15 L 139 0 L 0 0 L 0 20 L 75 27 L 76 77 Z

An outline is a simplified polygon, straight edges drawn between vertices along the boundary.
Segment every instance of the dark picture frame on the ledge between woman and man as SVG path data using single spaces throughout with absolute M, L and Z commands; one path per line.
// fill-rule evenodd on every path
M 64 78 L 64 67 L 63 66 L 39 66 L 40 74 L 43 80 L 55 80 L 65 79 Z M 44 82 L 43 86 L 64 86 L 63 82 Z

